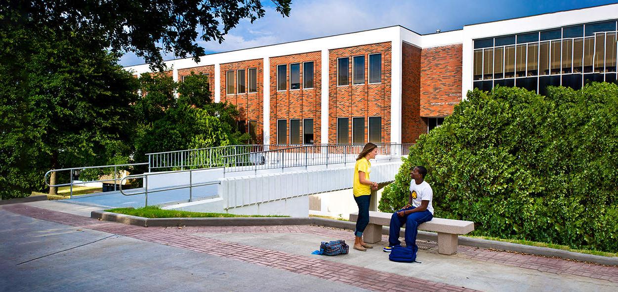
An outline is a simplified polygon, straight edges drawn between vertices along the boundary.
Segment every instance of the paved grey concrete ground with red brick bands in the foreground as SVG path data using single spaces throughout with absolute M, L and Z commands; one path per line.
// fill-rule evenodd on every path
M 97 221 L 95 207 L 0 207 L 1 291 L 617 291 L 618 267 L 460 246 L 422 264 L 390 262 L 381 246 L 311 255 L 352 232 L 321 226 L 156 228 Z M 386 238 L 383 238 L 386 239 Z M 361 289 L 359 289 L 361 288 Z

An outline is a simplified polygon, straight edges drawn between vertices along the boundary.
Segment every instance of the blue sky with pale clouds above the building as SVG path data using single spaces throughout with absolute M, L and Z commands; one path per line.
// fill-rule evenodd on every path
M 250 24 L 247 20 L 231 30 L 226 40 L 198 41 L 206 53 L 273 45 L 286 41 L 326 37 L 339 33 L 402 25 L 417 33 L 458 30 L 467 24 L 525 17 L 548 12 L 615 3 L 601 0 L 503 1 L 503 0 L 293 0 L 290 17 L 281 17 L 271 4 L 263 1 L 266 15 Z M 173 53 L 164 59 L 175 59 Z M 143 64 L 141 58 L 127 53 L 122 66 Z

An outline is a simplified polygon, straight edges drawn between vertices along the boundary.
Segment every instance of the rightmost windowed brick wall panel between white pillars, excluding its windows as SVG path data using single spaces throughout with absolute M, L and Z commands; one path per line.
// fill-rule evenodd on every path
M 382 54 L 382 82 L 368 84 L 369 54 Z M 365 84 L 352 85 L 352 56 L 365 55 Z M 349 57 L 349 85 L 337 86 L 337 58 Z M 337 143 L 337 118 L 349 118 L 352 142 L 352 118 L 365 117 L 365 139 L 371 116 L 382 118 L 382 142 L 391 142 L 391 43 L 353 46 L 329 51 L 328 142 Z

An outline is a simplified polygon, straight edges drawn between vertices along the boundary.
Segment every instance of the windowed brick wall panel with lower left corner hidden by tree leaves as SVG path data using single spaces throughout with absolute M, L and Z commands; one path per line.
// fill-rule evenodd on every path
M 240 113 L 239 119 L 247 121 L 247 131 L 248 131 L 248 121 L 255 120 L 257 122 L 256 132 L 257 132 L 257 142 L 262 143 L 263 141 L 263 97 L 264 97 L 264 87 L 263 87 L 263 76 L 264 76 L 264 60 L 263 59 L 255 59 L 255 60 L 247 60 L 240 62 L 232 62 L 221 64 L 219 69 L 221 70 L 221 102 L 229 102 L 236 106 L 238 106 L 238 110 Z M 249 68 L 257 68 L 257 92 L 248 93 L 249 83 L 248 83 L 248 69 Z M 226 94 L 226 72 L 230 70 L 234 70 L 234 92 L 236 91 L 236 70 L 245 69 L 245 93 L 233 93 Z

